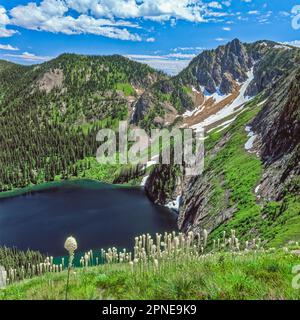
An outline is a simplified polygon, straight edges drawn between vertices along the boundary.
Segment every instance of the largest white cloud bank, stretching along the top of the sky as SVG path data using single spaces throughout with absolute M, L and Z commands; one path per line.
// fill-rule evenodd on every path
M 229 6 L 231 0 L 222 4 Z M 175 26 L 177 20 L 200 23 L 208 21 L 210 17 L 227 15 L 226 12 L 214 11 L 222 8 L 218 1 L 204 3 L 202 0 L 42 0 L 15 6 L 9 13 L 4 7 L 0 8 L 3 26 L 9 22 L 10 25 L 30 30 L 95 34 L 132 41 L 141 41 L 142 38 L 127 29 L 138 29 L 140 26 L 128 19 L 138 18 L 139 23 L 143 20 L 169 20 L 171 26 Z M 13 34 L 14 31 L 10 32 Z M 5 31 L 6 35 L 8 33 Z

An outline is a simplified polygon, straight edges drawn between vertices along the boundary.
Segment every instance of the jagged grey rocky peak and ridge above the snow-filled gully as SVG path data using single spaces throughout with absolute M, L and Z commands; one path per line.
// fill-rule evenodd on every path
M 166 122 L 168 125 L 173 122 L 178 124 L 178 117 L 198 107 L 199 101 L 206 96 L 212 97 L 206 109 L 213 108 L 216 93 L 237 95 L 251 67 L 254 68 L 254 79 L 246 94 L 254 96 L 299 63 L 299 52 L 299 48 L 273 41 L 261 40 L 249 44 L 238 39 L 216 49 L 205 50 L 178 75 L 164 80 L 161 85 L 156 83 L 141 95 L 136 102 L 132 122 L 146 129 L 163 127 Z M 155 118 L 154 111 L 157 110 L 159 119 Z M 145 118 L 149 118 L 146 123 Z

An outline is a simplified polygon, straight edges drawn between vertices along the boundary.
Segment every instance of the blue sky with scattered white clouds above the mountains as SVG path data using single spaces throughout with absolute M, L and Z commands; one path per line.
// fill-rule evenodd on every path
M 203 49 L 236 37 L 300 44 L 291 12 L 298 4 L 300 0 L 0 0 L 0 59 L 31 64 L 63 52 L 118 53 L 176 73 Z

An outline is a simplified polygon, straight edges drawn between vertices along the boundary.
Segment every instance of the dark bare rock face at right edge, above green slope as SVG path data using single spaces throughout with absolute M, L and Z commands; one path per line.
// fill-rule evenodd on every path
M 252 125 L 265 166 L 260 194 L 278 200 L 300 173 L 300 69 L 279 80 L 269 93 Z

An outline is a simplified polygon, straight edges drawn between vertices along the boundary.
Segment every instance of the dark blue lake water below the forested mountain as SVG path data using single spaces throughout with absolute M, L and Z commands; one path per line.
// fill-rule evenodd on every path
M 73 235 L 78 250 L 132 248 L 134 237 L 177 230 L 176 215 L 154 205 L 141 188 L 94 181 L 63 182 L 0 199 L 0 245 L 65 254 Z

